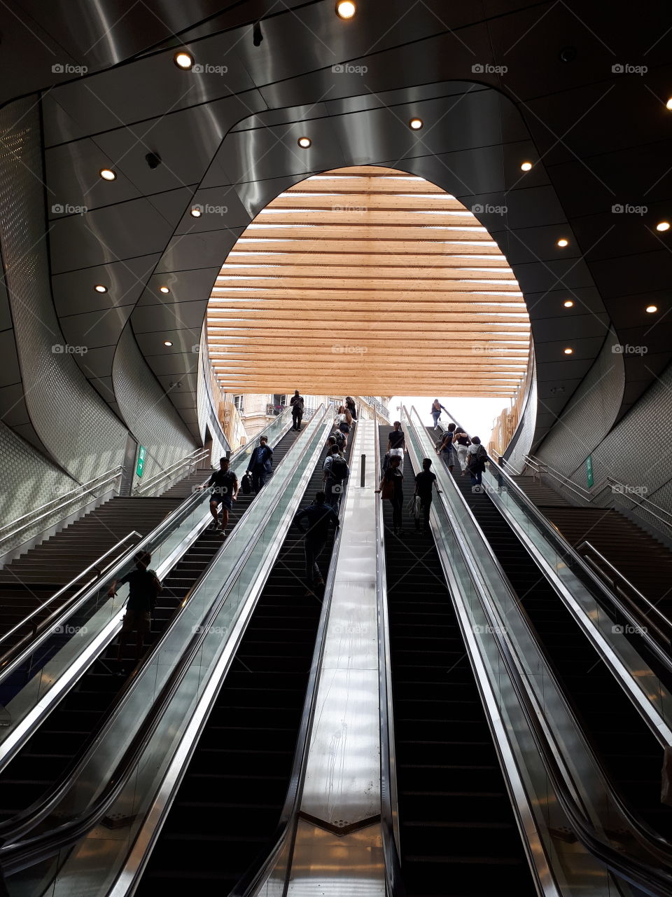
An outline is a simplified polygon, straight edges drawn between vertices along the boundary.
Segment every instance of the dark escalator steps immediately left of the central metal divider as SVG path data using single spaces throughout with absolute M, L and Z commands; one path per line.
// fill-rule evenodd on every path
M 301 501 L 322 489 L 322 464 Z M 333 534 L 332 534 L 333 536 Z M 320 559 L 328 569 L 332 537 Z M 303 539 L 282 544 L 137 894 L 231 891 L 271 838 L 289 786 L 322 610 L 306 595 Z

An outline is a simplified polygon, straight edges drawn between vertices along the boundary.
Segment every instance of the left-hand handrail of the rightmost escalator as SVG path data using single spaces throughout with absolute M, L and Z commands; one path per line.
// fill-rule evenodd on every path
M 419 421 L 417 410 L 415 408 L 413 408 L 412 410 L 415 411 Z M 416 431 L 417 428 L 414 422 L 411 420 L 408 412 L 406 416 L 409 422 L 409 426 L 412 427 L 414 431 Z M 419 440 L 419 438 L 418 442 L 421 443 L 421 440 Z M 456 484 L 455 492 L 458 500 L 461 500 L 461 502 L 463 503 L 465 511 L 473 519 L 471 510 Z M 594 825 L 590 822 L 587 814 L 585 814 L 582 808 L 577 804 L 571 790 L 567 787 L 564 774 L 560 770 L 559 763 L 556 759 L 557 757 L 563 755 L 561 747 L 560 745 L 554 746 L 548 743 L 549 736 L 551 736 L 552 728 L 542 727 L 541 725 L 541 722 L 538 718 L 538 710 L 535 707 L 533 701 L 531 701 L 530 695 L 527 692 L 525 685 L 523 684 L 521 672 L 517 664 L 513 660 L 513 652 L 509 645 L 509 641 L 504 634 L 504 627 L 500 625 L 498 617 L 496 616 L 490 605 L 489 597 L 487 597 L 488 589 L 486 583 L 483 582 L 478 574 L 478 568 L 470 554 L 470 548 L 466 547 L 468 544 L 468 540 L 462 538 L 461 531 L 455 523 L 452 515 L 452 509 L 447 499 L 445 498 L 444 493 L 440 492 L 439 494 L 441 495 L 440 501 L 444 509 L 445 517 L 448 520 L 449 525 L 452 527 L 452 532 L 455 536 L 456 543 L 460 548 L 462 558 L 468 570 L 470 570 L 470 576 L 475 587 L 475 594 L 478 596 L 479 603 L 490 625 L 490 630 L 495 637 L 500 655 L 502 656 L 504 664 L 509 671 L 509 678 L 516 692 L 516 697 L 528 721 L 530 731 L 535 739 L 535 744 L 537 746 L 539 754 L 542 757 L 544 766 L 547 769 L 549 778 L 551 779 L 553 787 L 556 790 L 556 796 L 560 800 L 565 814 L 573 825 L 574 833 L 577 835 L 579 840 L 582 841 L 586 849 L 589 849 L 594 856 L 602 860 L 602 862 L 604 862 L 607 867 L 612 868 L 614 871 L 616 871 L 618 875 L 623 875 L 634 884 L 646 888 L 647 893 L 654 894 L 656 895 L 656 897 L 669 897 L 669 893 L 672 890 L 672 873 L 666 874 L 662 870 L 650 866 L 650 864 L 643 862 L 639 858 L 633 857 L 632 855 L 626 856 L 622 851 L 612 847 L 610 844 L 605 843 L 605 841 L 599 837 L 599 834 L 597 833 Z M 476 523 L 478 532 L 480 533 L 478 522 L 475 520 L 474 522 Z M 490 545 L 487 543 L 487 539 L 482 535 L 482 533 L 480 535 L 483 540 L 482 547 L 484 551 L 487 551 L 487 553 L 490 553 L 492 555 L 492 551 L 490 549 Z M 492 556 L 495 557 L 494 555 Z M 501 569 L 501 564 L 496 561 L 496 558 L 495 563 L 499 568 L 502 578 L 508 583 L 504 570 Z M 555 678 L 555 676 L 553 676 L 550 671 L 549 675 L 551 678 Z M 611 786 L 611 783 L 604 773 L 599 760 L 597 762 L 600 767 L 600 771 L 602 771 L 605 786 L 609 791 L 609 797 L 614 802 L 614 805 L 618 808 L 619 812 L 625 817 L 627 823 L 631 826 L 633 832 L 635 833 L 636 840 L 642 843 L 642 845 L 645 846 L 646 849 L 649 849 L 657 859 L 659 859 L 661 862 L 667 863 L 668 866 L 672 868 L 672 848 L 670 847 L 668 842 L 664 838 L 659 836 L 657 832 L 652 832 L 652 830 L 650 830 L 648 826 L 641 823 L 639 819 L 633 816 L 628 807 L 623 804 L 620 797 L 618 797 L 616 791 Z

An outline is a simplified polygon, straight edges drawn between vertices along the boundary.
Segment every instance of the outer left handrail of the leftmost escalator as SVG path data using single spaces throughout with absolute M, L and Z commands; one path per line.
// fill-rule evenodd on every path
M 280 416 L 281 415 L 279 415 L 279 417 Z M 276 418 L 275 421 L 271 421 L 271 423 L 264 427 L 263 431 L 261 431 L 259 435 L 263 436 L 264 431 L 270 429 L 270 427 L 273 426 L 277 420 L 278 418 Z M 285 423 L 289 427 L 289 415 L 287 416 Z M 283 433 L 283 436 L 284 435 L 285 434 Z M 250 448 L 249 445 L 245 445 L 239 448 L 230 459 L 231 465 L 237 464 L 237 461 L 246 453 L 248 448 Z M 55 618 L 50 621 L 49 627 L 42 629 L 42 631 L 39 632 L 37 638 L 39 638 L 40 640 L 44 640 L 48 637 L 49 631 L 54 630 L 57 626 L 63 626 L 72 614 L 75 614 L 80 609 L 80 607 L 82 607 L 82 605 L 86 604 L 86 602 L 90 600 L 91 597 L 94 597 L 102 588 L 105 588 L 105 585 L 109 583 L 111 579 L 117 579 L 119 571 L 122 570 L 126 564 L 130 564 L 131 562 L 133 562 L 136 553 L 145 551 L 148 545 L 154 544 L 156 540 L 160 539 L 165 533 L 167 533 L 167 531 L 169 531 L 173 527 L 173 523 L 177 517 L 181 517 L 183 515 L 185 516 L 186 514 L 190 513 L 192 508 L 196 508 L 199 504 L 204 502 L 206 494 L 206 492 L 193 492 L 191 495 L 188 495 L 185 498 L 185 501 L 181 501 L 180 504 L 177 505 L 177 508 L 174 508 L 167 517 L 163 518 L 163 520 L 161 520 L 160 523 L 156 527 L 154 527 L 150 533 L 147 534 L 147 536 L 143 536 L 140 542 L 135 544 L 133 548 L 130 548 L 125 554 L 118 558 L 114 565 L 110 566 L 108 570 L 105 571 L 102 577 L 90 583 L 89 588 L 85 588 L 84 591 L 79 594 L 79 596 L 73 596 L 73 598 L 69 602 L 67 602 L 65 605 L 62 605 L 62 612 L 60 614 L 56 614 Z M 154 550 L 156 551 L 156 548 Z M 3 682 L 4 678 L 7 675 L 11 675 L 13 670 L 17 666 L 22 664 L 22 662 L 27 657 L 30 657 L 30 654 L 33 652 L 33 650 L 38 647 L 37 645 L 33 644 L 35 639 L 35 636 L 30 636 L 28 644 L 24 644 L 24 640 L 22 640 L 22 642 L 14 645 L 6 652 L 6 654 L 4 654 L 2 658 L 0 658 L 0 683 Z

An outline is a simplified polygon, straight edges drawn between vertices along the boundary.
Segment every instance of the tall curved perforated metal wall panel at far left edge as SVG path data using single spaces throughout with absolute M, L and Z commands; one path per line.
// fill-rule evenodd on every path
M 56 318 L 34 98 L 0 110 L 0 131 L 13 145 L 0 155 L 0 241 L 25 402 L 47 451 L 83 483 L 121 464 L 126 431 L 82 376 Z

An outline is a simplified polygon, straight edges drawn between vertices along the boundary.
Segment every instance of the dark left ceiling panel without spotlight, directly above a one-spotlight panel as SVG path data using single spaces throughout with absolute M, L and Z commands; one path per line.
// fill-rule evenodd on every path
M 55 221 L 49 235 L 52 272 L 162 252 L 172 232 L 173 227 L 146 199 Z

